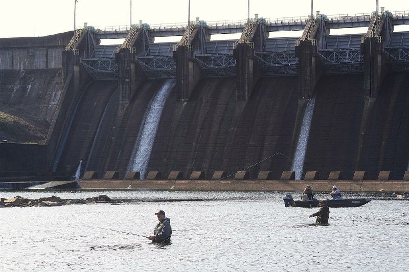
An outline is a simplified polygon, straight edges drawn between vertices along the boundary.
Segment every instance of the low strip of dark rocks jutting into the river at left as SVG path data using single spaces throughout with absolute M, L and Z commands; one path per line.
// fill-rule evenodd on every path
M 121 203 L 122 200 L 112 200 L 106 195 L 96 197 L 87 197 L 85 199 L 61 199 L 58 196 L 41 197 L 39 199 L 30 199 L 17 195 L 13 198 L 0 198 L 0 208 L 7 207 L 53 207 L 71 204 L 89 204 L 89 203 Z

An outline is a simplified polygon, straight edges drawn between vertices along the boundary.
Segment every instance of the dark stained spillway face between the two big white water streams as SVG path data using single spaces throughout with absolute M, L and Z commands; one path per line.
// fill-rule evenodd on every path
M 233 174 L 276 152 L 290 154 L 298 97 L 293 77 L 261 79 L 247 102 L 236 101 L 233 78 L 206 79 L 188 102 L 166 105 L 148 170 Z M 277 155 L 252 169 L 281 175 L 291 161 Z

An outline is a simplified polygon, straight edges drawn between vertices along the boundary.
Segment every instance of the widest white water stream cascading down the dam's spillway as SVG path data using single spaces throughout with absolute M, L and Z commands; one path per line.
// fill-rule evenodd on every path
M 157 92 L 156 96 L 152 99 L 145 112 L 144 121 L 138 135 L 138 140 L 135 143 L 132 157 L 128 165 L 128 171 L 139 171 L 141 179 L 144 179 L 146 176 L 146 168 L 148 167 L 157 126 L 161 120 L 166 99 L 168 98 L 174 85 L 175 80 L 168 79 Z

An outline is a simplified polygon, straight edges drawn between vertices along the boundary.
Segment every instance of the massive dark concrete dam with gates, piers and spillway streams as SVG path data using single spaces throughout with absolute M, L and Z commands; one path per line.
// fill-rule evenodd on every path
M 0 144 L 0 178 L 409 180 L 398 25 L 409 12 L 0 39 L 1 111 L 47 128 Z M 286 30 L 303 34 L 269 37 Z

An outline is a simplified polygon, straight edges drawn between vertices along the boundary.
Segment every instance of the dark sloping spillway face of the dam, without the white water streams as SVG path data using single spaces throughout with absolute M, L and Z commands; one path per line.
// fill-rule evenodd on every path
M 147 170 L 160 171 L 163 177 L 181 171 L 184 178 L 192 171 L 211 178 L 214 171 L 246 170 L 253 179 L 259 171 L 271 171 L 279 179 L 291 168 L 304 110 L 294 82 L 294 77 L 262 78 L 246 102 L 235 100 L 233 78 L 201 80 L 188 102 L 180 102 L 173 89 Z M 372 100 L 363 96 L 361 82 L 359 74 L 324 76 L 319 82 L 304 173 L 318 171 L 327 179 L 330 171 L 341 171 L 343 178 L 352 179 L 355 171 L 366 171 L 368 178 L 376 179 L 379 171 L 392 171 L 391 178 L 402 178 L 409 156 L 407 73 L 389 74 L 380 96 Z M 115 88 L 111 84 L 105 86 L 103 101 L 97 102 L 96 92 L 103 93 L 97 86 L 84 97 L 64 155 L 63 164 L 71 171 L 89 156 L 102 110 Z M 118 106 L 106 111 L 87 171 L 125 175 L 146 108 L 162 84 L 144 83 L 122 116 Z M 96 103 L 102 105 L 90 113 Z

